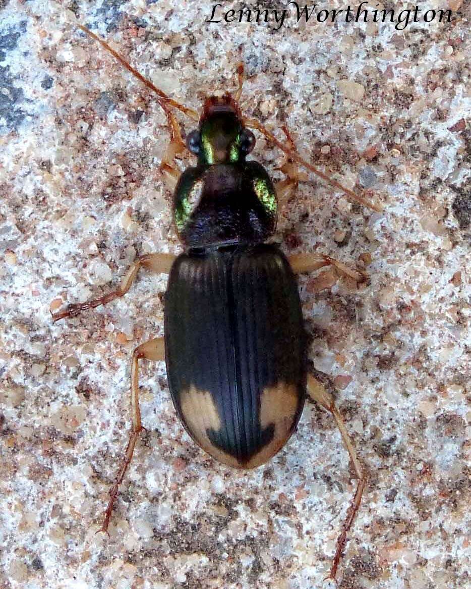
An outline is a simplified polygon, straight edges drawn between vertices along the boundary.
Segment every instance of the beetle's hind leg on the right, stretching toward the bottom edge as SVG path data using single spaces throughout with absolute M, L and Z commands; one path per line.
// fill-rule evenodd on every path
M 307 394 L 310 396 L 313 401 L 319 403 L 319 405 L 323 406 L 324 409 L 330 411 L 333 418 L 337 423 L 337 427 L 339 428 L 340 435 L 342 436 L 343 443 L 349 452 L 351 462 L 353 464 L 353 468 L 358 479 L 357 488 L 355 494 L 353 496 L 353 500 L 349 507 L 349 511 L 347 512 L 347 518 L 344 521 L 343 529 L 339 538 L 337 538 L 337 548 L 334 555 L 334 559 L 332 561 L 332 566 L 330 568 L 330 575 L 329 578 L 335 579 L 337 574 L 337 568 L 339 567 L 339 562 L 343 554 L 343 550 L 347 543 L 347 533 L 349 532 L 351 525 L 355 519 L 355 515 L 360 507 L 361 502 L 361 495 L 363 494 L 364 488 L 366 487 L 367 475 L 364 468 L 362 468 L 360 461 L 358 459 L 356 450 L 354 448 L 353 442 L 347 432 L 343 419 L 340 415 L 339 409 L 337 409 L 334 398 L 330 395 L 329 392 L 326 391 L 323 385 L 314 378 L 312 375 L 307 376 Z

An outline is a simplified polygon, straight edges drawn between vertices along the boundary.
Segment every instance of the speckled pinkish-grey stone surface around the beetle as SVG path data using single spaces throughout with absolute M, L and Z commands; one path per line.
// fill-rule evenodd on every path
M 311 403 L 286 448 L 241 473 L 191 442 L 163 363 L 143 363 L 147 431 L 110 537 L 95 534 L 127 442 L 132 349 L 162 335 L 165 277 L 55 325 L 49 309 L 107 292 L 137 254 L 181 248 L 158 173 L 165 118 L 72 13 L 196 109 L 236 88 L 243 59 L 244 113 L 277 133 L 286 121 L 301 153 L 382 201 L 351 206 L 309 176 L 276 235 L 370 277 L 299 280 L 311 363 L 370 471 L 339 586 L 469 586 L 471 6 L 420 4 L 461 14 L 276 33 L 207 25 L 211 4 L 193 0 L 0 2 L 2 589 L 329 587 L 355 487 Z M 261 138 L 254 157 L 283 161 Z

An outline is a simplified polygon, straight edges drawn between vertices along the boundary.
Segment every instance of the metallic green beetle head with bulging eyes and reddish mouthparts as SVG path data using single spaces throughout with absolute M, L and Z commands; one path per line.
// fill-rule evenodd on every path
M 244 161 L 255 145 L 254 134 L 244 129 L 240 111 L 230 94 L 212 96 L 204 104 L 198 130 L 187 137 L 188 149 L 200 166 Z

